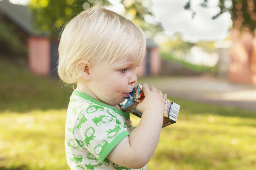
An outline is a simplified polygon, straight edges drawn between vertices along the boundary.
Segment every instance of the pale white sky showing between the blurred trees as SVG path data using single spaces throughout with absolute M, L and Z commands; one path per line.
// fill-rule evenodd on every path
M 9 0 L 13 4 L 25 4 L 28 0 Z M 109 0 L 116 11 L 122 12 L 124 7 L 119 3 L 120 0 Z M 129 1 L 129 0 L 128 0 Z M 130 0 L 134 1 L 134 0 Z M 218 13 L 218 0 L 209 1 L 211 8 L 204 9 L 199 6 L 203 0 L 192 0 L 192 8 L 197 12 L 192 19 L 192 12 L 186 11 L 184 5 L 188 0 L 151 0 L 153 2 L 152 11 L 155 17 L 151 20 L 161 22 L 165 29 L 165 35 L 172 36 L 175 32 L 180 32 L 185 41 L 199 40 L 223 40 L 232 25 L 229 13 L 223 13 L 217 19 L 211 17 Z M 143 5 L 147 6 L 145 0 Z M 150 18 L 148 19 L 150 20 Z

